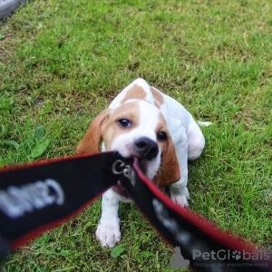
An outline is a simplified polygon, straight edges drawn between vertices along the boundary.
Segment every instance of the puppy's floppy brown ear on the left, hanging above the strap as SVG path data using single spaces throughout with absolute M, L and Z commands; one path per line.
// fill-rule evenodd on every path
M 83 140 L 77 146 L 76 154 L 93 153 L 100 151 L 100 143 L 102 141 L 102 128 L 103 125 L 109 120 L 111 110 L 106 109 L 97 115 L 89 125 L 89 128 Z

